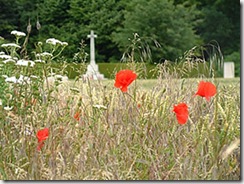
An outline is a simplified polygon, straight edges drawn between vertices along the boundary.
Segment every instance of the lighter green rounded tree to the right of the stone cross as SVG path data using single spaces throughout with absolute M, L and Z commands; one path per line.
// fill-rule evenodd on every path
M 113 40 L 125 51 L 130 44 L 128 38 L 137 33 L 150 45 L 153 62 L 161 58 L 175 60 L 200 41 L 194 30 L 195 15 L 194 7 L 175 6 L 172 1 L 131 1 L 125 10 L 123 26 L 113 33 Z M 156 47 L 155 42 L 161 47 Z

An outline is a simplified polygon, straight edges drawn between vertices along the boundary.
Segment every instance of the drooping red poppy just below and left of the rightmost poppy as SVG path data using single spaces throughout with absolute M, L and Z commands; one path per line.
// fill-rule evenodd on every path
M 183 125 L 187 122 L 189 112 L 185 103 L 174 105 L 173 112 L 175 112 L 179 124 Z

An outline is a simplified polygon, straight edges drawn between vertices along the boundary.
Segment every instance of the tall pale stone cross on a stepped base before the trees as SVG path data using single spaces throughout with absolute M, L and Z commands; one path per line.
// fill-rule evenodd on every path
M 90 64 L 87 66 L 86 74 L 83 75 L 85 79 L 94 79 L 101 80 L 104 79 L 104 75 L 100 74 L 98 70 L 98 65 L 95 62 L 95 38 L 97 35 L 91 31 L 90 35 L 87 35 L 90 38 Z

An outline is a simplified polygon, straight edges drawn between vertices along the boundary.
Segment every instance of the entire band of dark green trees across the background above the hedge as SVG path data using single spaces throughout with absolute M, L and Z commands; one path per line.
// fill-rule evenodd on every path
M 29 49 L 47 38 L 66 41 L 72 61 L 94 30 L 96 60 L 118 62 L 137 51 L 152 62 L 174 61 L 195 45 L 215 40 L 226 59 L 240 62 L 240 2 L 236 0 L 0 0 L 0 36 L 27 32 Z M 136 33 L 136 34 L 134 34 Z M 89 47 L 85 47 L 89 50 Z M 238 60 L 239 59 L 239 60 Z

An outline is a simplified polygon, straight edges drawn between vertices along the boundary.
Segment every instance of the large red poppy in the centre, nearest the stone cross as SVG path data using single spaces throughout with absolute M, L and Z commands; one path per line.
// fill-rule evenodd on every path
M 114 86 L 126 92 L 128 86 L 137 78 L 132 70 L 121 70 L 116 74 Z

